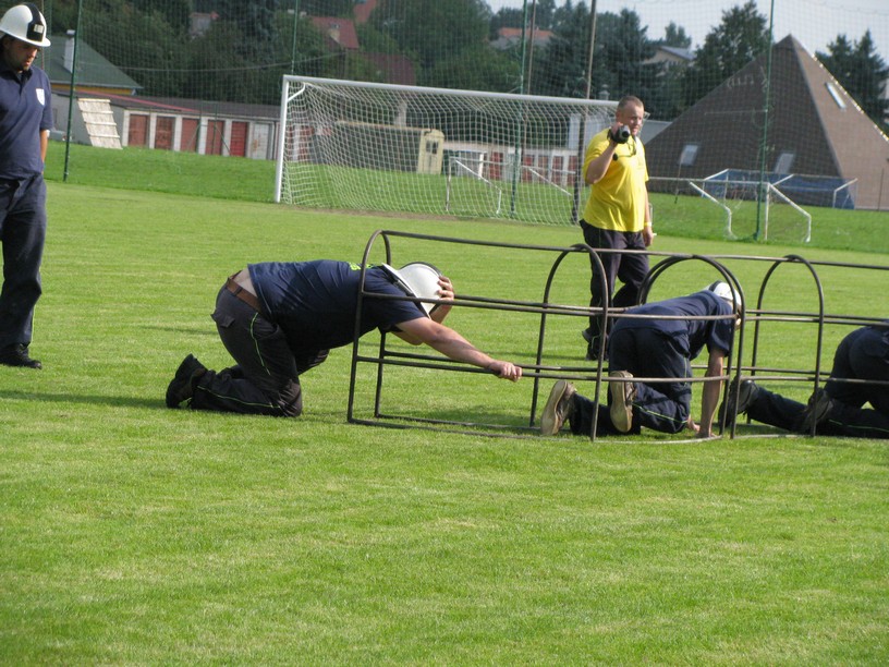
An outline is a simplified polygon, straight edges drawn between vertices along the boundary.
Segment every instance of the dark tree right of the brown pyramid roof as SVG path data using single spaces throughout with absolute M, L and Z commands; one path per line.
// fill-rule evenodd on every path
M 889 131 L 887 114 L 889 100 L 886 99 L 886 80 L 889 68 L 876 52 L 870 31 L 851 45 L 845 35 L 827 45 L 828 53 L 816 53 L 821 64 L 840 82 L 855 99 L 862 110 L 879 125 Z

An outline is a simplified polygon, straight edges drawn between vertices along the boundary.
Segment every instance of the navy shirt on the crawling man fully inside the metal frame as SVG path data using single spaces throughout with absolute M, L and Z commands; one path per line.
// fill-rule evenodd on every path
M 670 315 L 702 317 L 706 315 L 731 315 L 732 307 L 721 298 L 708 290 L 695 292 L 687 296 L 678 296 L 666 301 L 654 301 L 629 308 L 628 313 L 638 315 Z M 655 329 L 665 336 L 672 337 L 679 349 L 684 350 L 689 359 L 701 354 L 704 345 L 726 354 L 731 349 L 734 332 L 734 318 L 724 319 L 647 319 L 621 317 L 614 323 L 612 331 L 620 329 Z

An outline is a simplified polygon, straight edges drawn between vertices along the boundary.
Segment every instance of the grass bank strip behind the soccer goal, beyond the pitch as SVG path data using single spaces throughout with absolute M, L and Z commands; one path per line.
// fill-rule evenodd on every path
M 299 201 L 326 208 L 354 208 L 354 192 L 374 192 L 382 211 L 402 215 L 422 215 L 464 219 L 478 216 L 466 207 L 467 202 L 487 202 L 491 215 L 504 221 L 531 220 L 550 217 L 570 226 L 571 198 L 556 189 L 519 183 L 515 205 L 504 187 L 497 210 L 496 193 L 471 179 L 453 179 L 451 213 L 446 214 L 446 180 L 442 177 L 417 175 L 400 172 L 379 172 L 337 167 L 312 167 L 304 171 L 318 171 L 324 178 L 313 180 L 314 185 L 301 192 Z M 65 146 L 50 143 L 47 159 L 47 179 L 62 181 L 65 173 Z M 336 174 L 336 179 L 331 175 Z M 336 185 L 333 182 L 336 181 Z M 125 148 L 110 150 L 72 145 L 68 160 L 68 182 L 71 184 L 98 185 L 123 190 L 144 190 L 169 194 L 187 194 L 214 198 L 247 202 L 271 202 L 275 195 L 275 163 L 267 160 L 248 160 L 219 156 L 199 156 L 167 150 Z M 416 191 L 423 187 L 425 198 Z M 435 194 L 429 194 L 435 193 Z M 585 195 L 584 195 L 585 196 Z M 429 198 L 436 203 L 430 207 Z M 726 214 L 711 203 L 696 196 L 674 196 L 653 193 L 651 203 L 658 232 L 686 239 L 727 238 Z M 759 248 L 790 244 L 802 246 L 805 238 L 803 218 L 786 205 L 770 207 L 768 229 L 766 221 L 757 221 L 756 204 L 731 203 L 732 232 L 741 242 L 756 242 Z M 812 241 L 806 247 L 825 250 L 852 250 L 856 252 L 889 253 L 889 234 L 880 233 L 889 225 L 889 214 L 866 210 L 837 210 L 807 207 L 812 215 Z M 758 214 L 760 217 L 763 211 Z M 763 241 L 767 237 L 768 241 Z

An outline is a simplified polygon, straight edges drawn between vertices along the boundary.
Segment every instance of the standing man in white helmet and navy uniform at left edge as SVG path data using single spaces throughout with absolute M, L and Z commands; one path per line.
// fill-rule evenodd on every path
M 50 87 L 34 66 L 49 46 L 44 15 L 31 2 L 0 19 L 0 364 L 42 367 L 28 354 L 34 306 L 40 298 L 46 239 L 46 160 L 52 129 Z

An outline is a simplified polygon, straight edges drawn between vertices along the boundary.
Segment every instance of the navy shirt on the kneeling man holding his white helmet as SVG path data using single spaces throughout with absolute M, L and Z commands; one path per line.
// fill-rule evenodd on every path
M 348 262 L 267 262 L 251 264 L 251 280 L 264 313 L 284 331 L 294 354 L 339 348 L 352 342 L 361 287 L 361 266 Z M 369 267 L 365 292 L 404 296 L 385 269 Z M 365 298 L 361 333 L 389 330 L 425 317 L 412 301 Z

